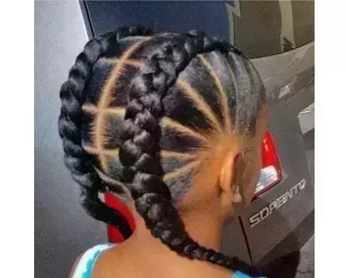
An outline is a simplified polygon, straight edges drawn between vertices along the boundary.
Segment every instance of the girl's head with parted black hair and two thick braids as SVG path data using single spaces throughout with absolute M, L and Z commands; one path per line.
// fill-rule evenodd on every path
M 129 235 L 98 198 L 111 190 L 172 250 L 236 267 L 192 240 L 180 217 L 209 211 L 223 220 L 253 197 L 267 111 L 240 51 L 196 31 L 118 28 L 86 44 L 61 99 L 65 164 L 90 215 Z

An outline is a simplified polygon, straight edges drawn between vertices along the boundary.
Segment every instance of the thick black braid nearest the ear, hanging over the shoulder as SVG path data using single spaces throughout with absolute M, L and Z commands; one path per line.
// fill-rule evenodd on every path
M 193 57 L 214 50 L 235 51 L 239 54 L 238 50 L 226 42 L 209 38 L 205 33 L 191 32 L 180 38 L 168 38 L 144 61 L 129 90 L 120 161 L 125 168 L 125 176 L 130 177 L 128 182 L 136 210 L 153 236 L 160 238 L 171 250 L 188 258 L 258 275 L 255 269 L 239 259 L 207 250 L 196 243 L 185 231 L 180 216 L 171 203 L 168 186 L 161 179 L 161 100 Z

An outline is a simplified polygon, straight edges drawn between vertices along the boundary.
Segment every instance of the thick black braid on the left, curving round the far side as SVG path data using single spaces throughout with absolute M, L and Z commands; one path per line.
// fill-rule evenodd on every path
M 116 31 L 93 38 L 77 56 L 69 72 L 68 81 L 61 86 L 61 115 L 58 130 L 63 139 L 64 163 L 70 170 L 74 181 L 81 186 L 81 204 L 87 213 L 102 222 L 113 224 L 128 238 L 132 234 L 127 220 L 118 211 L 100 201 L 98 193 L 105 190 L 104 184 L 97 176 L 90 156 L 81 147 L 81 115 L 86 99 L 86 84 L 93 71 L 93 65 L 104 55 L 109 44 L 131 35 L 149 35 L 150 29 L 141 26 L 120 27 Z M 104 187 L 104 188 L 103 188 Z

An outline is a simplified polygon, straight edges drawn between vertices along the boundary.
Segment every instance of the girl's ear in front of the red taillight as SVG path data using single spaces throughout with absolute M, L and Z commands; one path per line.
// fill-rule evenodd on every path
M 241 203 L 242 195 L 239 183 L 235 180 L 239 153 L 229 152 L 221 167 L 219 187 L 223 202 Z

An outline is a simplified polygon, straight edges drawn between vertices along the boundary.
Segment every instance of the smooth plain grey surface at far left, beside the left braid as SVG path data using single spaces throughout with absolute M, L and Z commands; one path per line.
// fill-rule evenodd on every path
M 106 240 L 79 205 L 63 165 L 59 89 L 87 42 L 78 1 L 35 1 L 35 277 L 68 277 L 74 259 Z

